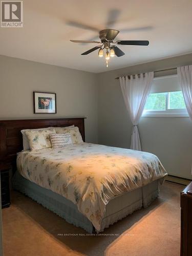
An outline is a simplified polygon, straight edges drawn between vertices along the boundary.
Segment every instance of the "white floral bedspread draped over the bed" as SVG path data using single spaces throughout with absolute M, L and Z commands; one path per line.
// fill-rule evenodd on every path
M 105 205 L 115 196 L 167 175 L 146 152 L 91 143 L 18 153 L 17 169 L 30 181 L 77 205 L 99 230 Z

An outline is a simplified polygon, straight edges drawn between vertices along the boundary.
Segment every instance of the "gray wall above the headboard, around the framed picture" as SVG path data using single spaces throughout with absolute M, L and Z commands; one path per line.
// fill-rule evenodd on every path
M 33 91 L 55 92 L 57 114 L 33 114 Z M 96 74 L 0 55 L 0 119 L 87 117 L 86 141 L 98 141 Z

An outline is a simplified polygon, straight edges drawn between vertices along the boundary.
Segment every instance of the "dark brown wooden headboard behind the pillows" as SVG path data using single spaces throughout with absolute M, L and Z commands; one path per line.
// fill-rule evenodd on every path
M 84 141 L 84 118 L 0 120 L 0 163 L 15 166 L 16 153 L 23 150 L 21 130 L 49 126 L 65 127 L 73 124 L 79 127 Z

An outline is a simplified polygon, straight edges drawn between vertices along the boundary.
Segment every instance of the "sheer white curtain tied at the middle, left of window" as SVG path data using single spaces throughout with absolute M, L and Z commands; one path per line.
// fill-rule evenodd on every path
M 127 76 L 119 77 L 126 109 L 129 112 L 133 123 L 131 136 L 131 148 L 133 150 L 141 151 L 137 125 L 139 118 L 142 115 L 148 94 L 150 93 L 153 77 L 154 72 L 145 73 L 144 75 L 140 74 L 140 77 L 135 75 L 135 78 L 131 75 L 130 79 Z

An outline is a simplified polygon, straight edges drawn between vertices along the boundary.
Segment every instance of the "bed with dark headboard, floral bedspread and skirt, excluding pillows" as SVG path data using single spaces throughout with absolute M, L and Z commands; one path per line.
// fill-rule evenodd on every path
M 0 152 L 4 148 L 7 152 L 4 159 L 12 161 L 13 166 L 16 152 L 22 150 L 18 132 L 23 128 L 75 124 L 84 141 L 83 118 L 22 120 L 22 126 L 20 123 L 20 120 L 0 122 L 0 136 L 4 135 L 6 141 Z M 15 147 L 10 155 L 10 141 L 14 144 L 16 141 L 13 135 L 20 148 Z M 153 154 L 91 143 L 20 152 L 17 167 L 14 188 L 90 233 L 100 232 L 135 210 L 147 207 L 158 196 L 159 184 L 167 175 Z

